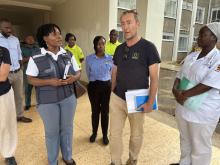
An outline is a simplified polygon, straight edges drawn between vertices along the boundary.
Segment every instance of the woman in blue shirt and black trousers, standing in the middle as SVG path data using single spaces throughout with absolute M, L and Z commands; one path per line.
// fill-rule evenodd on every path
M 101 126 L 103 144 L 108 145 L 109 100 L 111 94 L 112 57 L 105 54 L 105 38 L 96 36 L 93 40 L 95 53 L 86 58 L 86 73 L 89 79 L 88 95 L 92 108 L 92 135 L 90 142 L 95 142 L 99 116 L 101 113 Z

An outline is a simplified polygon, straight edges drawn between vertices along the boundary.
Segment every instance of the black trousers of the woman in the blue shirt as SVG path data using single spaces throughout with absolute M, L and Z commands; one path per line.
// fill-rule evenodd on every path
M 110 94 L 110 81 L 97 80 L 89 82 L 88 95 L 92 108 L 92 130 L 94 134 L 97 134 L 98 131 L 100 113 L 102 134 L 103 136 L 107 136 L 108 134 Z

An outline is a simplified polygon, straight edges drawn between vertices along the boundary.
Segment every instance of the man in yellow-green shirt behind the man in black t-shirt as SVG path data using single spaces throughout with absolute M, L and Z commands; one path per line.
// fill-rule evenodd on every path
M 118 41 L 118 31 L 115 29 L 112 29 L 109 34 L 110 40 L 106 42 L 105 44 L 105 53 L 108 55 L 113 56 L 115 53 L 115 49 L 118 45 L 121 43 Z

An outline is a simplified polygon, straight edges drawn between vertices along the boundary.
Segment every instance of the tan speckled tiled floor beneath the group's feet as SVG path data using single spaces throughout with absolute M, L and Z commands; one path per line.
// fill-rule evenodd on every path
M 77 165 L 108 165 L 110 163 L 109 146 L 102 145 L 100 129 L 97 142 L 89 143 L 90 115 L 88 97 L 84 95 L 78 100 L 75 115 L 73 158 Z M 15 155 L 18 165 L 45 165 L 47 158 L 42 121 L 35 111 L 35 107 L 26 112 L 26 116 L 31 117 L 33 122 L 18 124 L 19 143 Z M 160 111 L 147 114 L 144 130 L 144 143 L 138 165 L 168 165 L 178 161 L 180 156 L 179 134 L 175 128 L 174 117 Z M 128 158 L 128 122 L 126 122 L 123 138 L 124 154 L 122 159 L 125 163 Z M 215 135 L 215 139 L 220 139 L 219 135 Z M 4 160 L 0 157 L 0 165 L 3 164 Z M 59 156 L 59 164 L 64 165 L 61 156 Z M 220 149 L 213 147 L 212 165 L 219 164 Z

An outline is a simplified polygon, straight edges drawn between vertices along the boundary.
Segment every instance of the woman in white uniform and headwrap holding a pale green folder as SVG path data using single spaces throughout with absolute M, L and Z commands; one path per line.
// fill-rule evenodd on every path
M 199 31 L 199 52 L 189 54 L 173 85 L 181 157 L 172 165 L 209 165 L 212 135 L 220 117 L 220 23 Z

